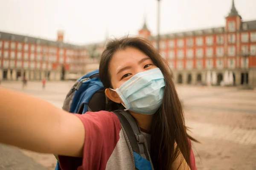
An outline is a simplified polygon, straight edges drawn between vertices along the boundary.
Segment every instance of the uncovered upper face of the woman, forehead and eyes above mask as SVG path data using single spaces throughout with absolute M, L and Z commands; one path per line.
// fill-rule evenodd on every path
M 137 48 L 117 51 L 110 62 L 109 71 L 113 89 L 119 88 L 135 74 L 157 68 L 152 60 Z

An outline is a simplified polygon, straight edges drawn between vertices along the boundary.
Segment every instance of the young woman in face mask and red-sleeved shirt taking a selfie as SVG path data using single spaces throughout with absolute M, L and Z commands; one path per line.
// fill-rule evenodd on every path
M 145 39 L 108 42 L 99 65 L 105 94 L 123 105 L 146 137 L 155 170 L 195 170 L 182 106 L 164 59 Z M 0 142 L 59 156 L 63 170 L 132 170 L 117 116 L 71 114 L 44 100 L 0 88 Z

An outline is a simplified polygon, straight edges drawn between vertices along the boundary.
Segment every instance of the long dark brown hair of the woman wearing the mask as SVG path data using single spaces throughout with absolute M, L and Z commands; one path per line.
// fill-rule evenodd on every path
M 123 37 L 109 41 L 102 53 L 99 64 L 99 77 L 105 88 L 111 88 L 109 74 L 110 61 L 118 50 L 134 47 L 144 52 L 154 64 L 160 68 L 165 78 L 166 86 L 163 95 L 163 104 L 154 114 L 151 124 L 150 156 L 154 169 L 171 170 L 172 163 L 182 153 L 187 164 L 190 164 L 190 145 L 188 137 L 196 141 L 186 132 L 183 109 L 172 80 L 170 69 L 165 60 L 150 42 L 139 37 Z M 177 143 L 175 149 L 175 142 Z M 190 166 L 191 167 L 191 166 Z

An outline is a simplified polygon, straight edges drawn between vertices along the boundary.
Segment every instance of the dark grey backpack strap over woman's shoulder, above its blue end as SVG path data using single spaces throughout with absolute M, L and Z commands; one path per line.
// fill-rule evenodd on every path
M 145 136 L 141 134 L 140 127 L 138 126 L 137 121 L 134 119 L 134 117 L 131 116 L 130 113 L 121 109 L 113 112 L 119 118 L 122 126 L 124 127 L 132 150 L 135 153 L 140 154 L 140 156 L 142 156 L 144 159 L 150 161 L 150 155 L 145 145 Z

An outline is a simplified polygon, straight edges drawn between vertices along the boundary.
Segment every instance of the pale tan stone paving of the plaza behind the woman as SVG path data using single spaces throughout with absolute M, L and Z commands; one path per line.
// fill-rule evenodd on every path
M 24 91 L 57 107 L 72 82 L 2 82 L 3 87 Z M 193 143 L 198 170 L 256 170 L 256 90 L 235 87 L 178 86 L 186 125 L 201 143 Z M 0 145 L 0 170 L 54 170 L 55 157 Z

